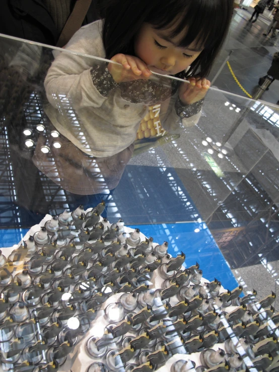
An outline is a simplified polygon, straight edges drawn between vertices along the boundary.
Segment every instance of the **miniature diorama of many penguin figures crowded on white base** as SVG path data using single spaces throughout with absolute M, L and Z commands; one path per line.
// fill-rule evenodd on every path
M 3 371 L 279 371 L 273 291 L 224 289 L 104 209 L 47 215 L 0 251 Z

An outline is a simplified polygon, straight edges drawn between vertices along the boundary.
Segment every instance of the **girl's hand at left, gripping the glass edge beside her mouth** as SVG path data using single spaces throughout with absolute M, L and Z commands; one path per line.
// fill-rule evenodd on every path
M 108 70 L 116 83 L 148 79 L 152 73 L 145 62 L 132 55 L 115 54 L 111 60 L 122 64 L 122 66 L 114 63 L 108 65 Z

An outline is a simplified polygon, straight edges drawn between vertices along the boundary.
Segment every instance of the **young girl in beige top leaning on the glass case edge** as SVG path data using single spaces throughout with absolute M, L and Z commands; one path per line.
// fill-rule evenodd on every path
M 67 52 L 55 58 L 45 79 L 45 111 L 61 147 L 50 137 L 45 155 L 45 139 L 39 141 L 37 167 L 76 194 L 111 190 L 150 105 L 161 104 L 161 124 L 170 132 L 194 125 L 232 12 L 233 0 L 109 0 L 103 20 L 81 28 L 65 49 L 122 66 Z

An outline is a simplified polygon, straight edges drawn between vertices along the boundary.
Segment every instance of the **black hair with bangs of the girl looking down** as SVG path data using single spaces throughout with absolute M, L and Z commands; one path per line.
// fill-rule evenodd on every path
M 134 37 L 144 22 L 155 29 L 175 26 L 171 37 L 185 28 L 180 46 L 196 42 L 203 51 L 192 62 L 187 76 L 208 76 L 226 39 L 234 0 L 99 0 L 104 18 L 103 42 L 106 58 L 123 53 L 134 55 Z M 184 74 L 185 76 L 185 74 Z

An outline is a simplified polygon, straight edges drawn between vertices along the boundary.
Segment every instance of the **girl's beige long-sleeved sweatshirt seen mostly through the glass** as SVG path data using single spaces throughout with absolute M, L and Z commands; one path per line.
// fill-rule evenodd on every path
M 90 56 L 105 58 L 102 21 L 82 27 L 65 49 L 87 56 L 61 52 L 54 59 L 44 83 L 50 103 L 45 111 L 56 129 L 84 153 L 107 157 L 124 150 L 134 141 L 148 107 L 160 99 L 165 130 L 178 133 L 183 126 L 198 121 L 200 113 L 183 119 L 178 116 L 174 107 L 177 93 L 168 98 L 162 94 L 162 90 L 170 92 L 170 78 L 155 76 L 155 83 L 120 83 L 107 95 L 100 93 L 93 84 L 91 69 L 105 67 L 107 62 Z M 105 88 L 106 82 L 102 84 Z

